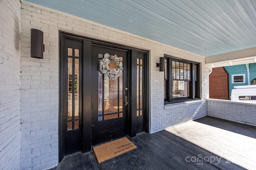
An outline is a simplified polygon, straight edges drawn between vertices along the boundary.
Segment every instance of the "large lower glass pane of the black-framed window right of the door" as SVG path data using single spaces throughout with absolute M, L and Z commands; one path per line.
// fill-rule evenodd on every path
M 172 98 L 189 97 L 189 82 L 173 80 Z

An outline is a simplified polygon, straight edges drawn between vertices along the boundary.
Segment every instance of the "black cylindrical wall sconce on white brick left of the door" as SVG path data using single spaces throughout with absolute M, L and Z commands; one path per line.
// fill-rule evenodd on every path
M 31 57 L 44 58 L 44 33 L 38 29 L 31 29 Z

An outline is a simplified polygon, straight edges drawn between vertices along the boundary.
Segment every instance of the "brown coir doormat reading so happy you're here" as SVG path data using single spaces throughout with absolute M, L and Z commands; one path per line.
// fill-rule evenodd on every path
M 99 163 L 114 158 L 137 147 L 126 137 L 93 147 Z

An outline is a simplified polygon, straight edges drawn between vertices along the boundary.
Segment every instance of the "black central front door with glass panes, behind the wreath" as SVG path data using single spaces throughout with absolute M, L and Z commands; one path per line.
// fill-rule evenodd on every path
M 104 54 L 117 55 L 123 72 L 116 79 L 105 79 L 99 63 Z M 92 46 L 92 145 L 128 134 L 128 51 Z M 109 64 L 110 69 L 116 67 Z

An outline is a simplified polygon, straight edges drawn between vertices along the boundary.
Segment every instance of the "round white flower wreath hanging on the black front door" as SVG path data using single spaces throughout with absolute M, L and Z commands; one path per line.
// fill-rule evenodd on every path
M 115 62 L 117 69 L 110 70 L 108 64 Z M 116 79 L 122 74 L 123 63 L 119 60 L 119 57 L 116 55 L 109 55 L 108 53 L 104 54 L 104 58 L 100 60 L 100 71 L 104 74 L 104 79 Z

